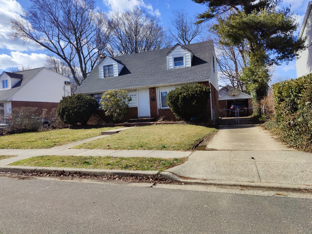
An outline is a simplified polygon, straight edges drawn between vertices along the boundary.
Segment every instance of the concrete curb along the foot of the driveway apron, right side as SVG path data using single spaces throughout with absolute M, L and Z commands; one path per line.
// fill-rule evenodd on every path
M 188 183 L 201 183 L 211 185 L 228 185 L 228 186 L 247 186 L 247 187 L 265 187 L 265 188 L 289 188 L 289 189 L 312 189 L 312 185 L 300 184 L 280 184 L 280 183 L 265 183 L 265 182 L 239 182 L 239 181 L 222 181 L 222 180 L 200 180 L 200 179 L 182 179 L 177 175 L 163 171 L 160 175 L 169 180 L 188 182 Z

